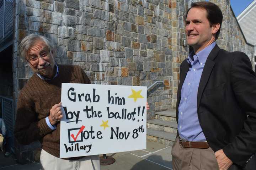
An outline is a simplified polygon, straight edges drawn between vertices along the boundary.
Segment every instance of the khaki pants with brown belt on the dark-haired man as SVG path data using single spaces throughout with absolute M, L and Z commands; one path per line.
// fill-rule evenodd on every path
M 172 167 L 174 170 L 219 170 L 213 150 L 183 148 L 178 137 L 172 146 Z

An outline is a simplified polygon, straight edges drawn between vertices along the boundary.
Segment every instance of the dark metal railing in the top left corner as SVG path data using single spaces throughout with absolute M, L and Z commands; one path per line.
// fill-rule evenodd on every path
M 13 0 L 0 0 L 0 42 L 12 33 L 13 5 Z

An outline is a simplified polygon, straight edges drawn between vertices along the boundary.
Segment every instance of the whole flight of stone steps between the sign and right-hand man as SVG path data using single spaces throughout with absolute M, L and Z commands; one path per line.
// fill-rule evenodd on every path
M 160 111 L 155 115 L 155 119 L 147 120 L 147 139 L 172 145 L 177 133 L 176 110 Z

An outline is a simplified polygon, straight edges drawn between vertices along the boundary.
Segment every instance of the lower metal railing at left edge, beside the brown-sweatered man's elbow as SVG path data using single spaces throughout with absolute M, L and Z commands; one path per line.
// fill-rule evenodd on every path
M 13 134 L 14 132 L 14 107 L 13 100 L 0 96 L 2 119 L 4 119 L 6 129 Z

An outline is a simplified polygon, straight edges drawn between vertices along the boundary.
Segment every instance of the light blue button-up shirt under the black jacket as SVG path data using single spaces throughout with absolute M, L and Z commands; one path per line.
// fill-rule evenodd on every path
M 192 51 L 187 58 L 190 68 L 181 88 L 178 106 L 178 132 L 180 138 L 186 141 L 206 141 L 197 115 L 197 91 L 204 64 L 215 44 L 210 44 L 197 54 Z

